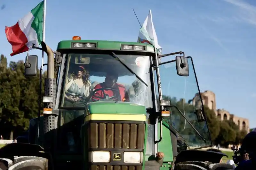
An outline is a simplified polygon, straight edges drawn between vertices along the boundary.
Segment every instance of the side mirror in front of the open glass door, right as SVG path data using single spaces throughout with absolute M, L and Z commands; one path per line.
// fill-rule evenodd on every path
M 179 76 L 189 76 L 187 57 L 176 56 L 176 70 Z

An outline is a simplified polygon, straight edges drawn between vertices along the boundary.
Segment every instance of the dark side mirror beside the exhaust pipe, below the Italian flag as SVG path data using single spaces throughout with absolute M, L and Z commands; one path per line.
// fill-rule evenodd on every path
M 25 76 L 36 76 L 37 73 L 37 64 L 38 64 L 38 57 L 37 55 L 28 55 L 26 57 L 27 63 L 25 63 Z

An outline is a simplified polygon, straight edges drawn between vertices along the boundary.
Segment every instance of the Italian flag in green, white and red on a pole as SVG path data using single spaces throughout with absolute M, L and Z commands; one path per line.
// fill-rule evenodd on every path
M 12 45 L 11 56 L 28 51 L 35 44 L 38 47 L 43 39 L 44 1 L 32 9 L 17 24 L 5 26 L 7 40 Z

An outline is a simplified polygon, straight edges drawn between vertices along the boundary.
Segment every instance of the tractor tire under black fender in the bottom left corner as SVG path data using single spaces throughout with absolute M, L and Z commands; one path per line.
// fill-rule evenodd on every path
M 48 170 L 48 159 L 35 156 L 0 158 L 0 170 Z

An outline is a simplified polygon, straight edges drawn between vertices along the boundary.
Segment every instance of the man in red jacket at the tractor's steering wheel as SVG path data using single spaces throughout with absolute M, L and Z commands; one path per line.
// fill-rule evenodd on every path
M 116 83 L 117 79 L 118 79 L 118 73 L 114 71 L 108 72 L 106 75 L 105 81 L 103 83 L 95 85 L 94 87 L 95 92 L 92 95 L 92 100 L 97 101 L 100 99 L 109 98 L 109 99 L 116 99 L 120 101 L 129 102 L 130 99 L 124 85 Z

